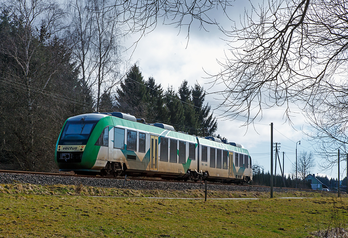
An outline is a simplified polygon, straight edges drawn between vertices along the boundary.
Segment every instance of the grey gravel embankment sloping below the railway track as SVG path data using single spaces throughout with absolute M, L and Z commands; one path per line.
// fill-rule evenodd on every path
M 185 191 L 190 189 L 204 189 L 204 184 L 200 183 L 181 183 L 181 182 L 165 182 L 165 181 L 142 181 L 127 180 L 124 184 L 122 179 L 113 178 L 88 178 L 88 177 L 70 177 L 70 176 L 51 176 L 51 175 L 33 175 L 33 174 L 8 174 L 0 173 L 0 184 L 11 183 L 30 183 L 41 185 L 79 185 L 101 187 L 101 188 L 127 188 L 134 190 L 178 190 Z M 259 191 L 269 192 L 269 188 L 223 185 L 223 184 L 207 184 L 207 190 L 213 191 Z M 291 191 L 292 189 L 274 188 L 275 192 Z M 303 190 L 304 191 L 304 190 Z

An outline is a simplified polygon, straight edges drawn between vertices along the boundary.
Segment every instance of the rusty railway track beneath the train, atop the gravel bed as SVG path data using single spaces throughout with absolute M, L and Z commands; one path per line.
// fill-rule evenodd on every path
M 152 182 L 175 182 L 175 183 L 184 183 L 184 184 L 203 184 L 203 181 L 194 182 L 194 181 L 176 181 L 176 180 L 163 180 L 163 179 L 154 179 L 154 178 L 125 178 L 125 177 L 109 177 L 109 176 L 91 176 L 91 175 L 77 175 L 77 174 L 61 174 L 61 173 L 43 173 L 43 172 L 27 172 L 27 171 L 15 171 L 15 170 L 0 170 L 0 173 L 5 174 L 30 174 L 30 175 L 46 175 L 46 176 L 62 176 L 62 177 L 75 177 L 75 178 L 96 178 L 96 179 L 113 179 L 113 180 L 122 180 L 122 181 L 152 181 Z M 259 186 L 259 185 L 240 185 L 240 184 L 222 184 L 216 182 L 207 182 L 210 185 L 224 185 L 224 186 L 238 186 L 245 188 L 264 188 L 270 189 L 268 186 Z M 274 187 L 274 189 L 291 189 L 294 191 L 313 191 L 311 189 L 296 189 L 296 188 L 282 188 Z

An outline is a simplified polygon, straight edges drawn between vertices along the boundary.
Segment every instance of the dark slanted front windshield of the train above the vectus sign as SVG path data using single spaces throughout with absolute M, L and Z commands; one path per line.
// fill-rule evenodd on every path
M 85 145 L 96 121 L 68 121 L 65 124 L 59 144 Z

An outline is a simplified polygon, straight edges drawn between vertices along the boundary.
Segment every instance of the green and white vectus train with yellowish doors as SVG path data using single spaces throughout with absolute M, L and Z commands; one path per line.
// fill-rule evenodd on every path
M 90 113 L 65 121 L 55 162 L 76 174 L 161 177 L 245 183 L 251 157 L 243 146 L 176 132 L 121 112 Z

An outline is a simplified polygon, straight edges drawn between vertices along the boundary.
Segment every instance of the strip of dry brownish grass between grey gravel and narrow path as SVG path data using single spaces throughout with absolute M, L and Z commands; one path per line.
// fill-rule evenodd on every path
M 169 197 L 169 198 L 204 198 L 204 189 L 176 190 L 134 190 L 97 188 L 79 185 L 34 185 L 34 184 L 0 184 L 0 193 L 9 194 L 35 194 L 35 195 L 84 195 L 84 196 L 108 196 L 108 197 Z M 269 192 L 258 191 L 207 191 L 208 198 L 269 198 Z M 291 191 L 274 193 L 274 198 L 279 197 L 337 197 L 337 194 L 329 192 L 303 192 Z M 348 197 L 345 193 L 342 197 Z

